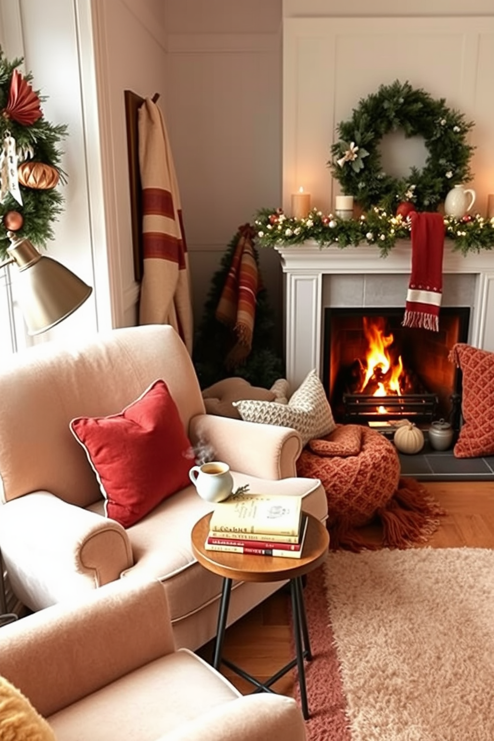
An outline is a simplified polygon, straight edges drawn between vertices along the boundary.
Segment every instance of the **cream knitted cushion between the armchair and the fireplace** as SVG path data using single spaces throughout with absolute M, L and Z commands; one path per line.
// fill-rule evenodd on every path
M 233 402 L 233 405 L 246 422 L 293 428 L 300 434 L 302 445 L 307 445 L 315 437 L 327 435 L 336 427 L 324 386 L 315 370 L 307 374 L 290 396 L 288 404 L 247 399 Z

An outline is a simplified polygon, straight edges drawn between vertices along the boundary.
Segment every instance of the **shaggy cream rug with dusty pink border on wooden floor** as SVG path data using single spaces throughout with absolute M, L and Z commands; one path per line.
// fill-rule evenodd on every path
M 307 741 L 494 739 L 494 551 L 337 551 L 304 597 Z

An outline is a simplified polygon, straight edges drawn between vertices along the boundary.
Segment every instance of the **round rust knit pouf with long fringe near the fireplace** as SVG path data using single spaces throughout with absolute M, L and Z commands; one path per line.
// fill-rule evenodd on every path
M 358 532 L 376 519 L 383 529 L 381 545 L 407 548 L 426 540 L 444 514 L 415 479 L 400 477 L 393 443 L 361 425 L 338 425 L 323 439 L 311 440 L 297 473 L 321 479 L 333 548 L 379 547 Z

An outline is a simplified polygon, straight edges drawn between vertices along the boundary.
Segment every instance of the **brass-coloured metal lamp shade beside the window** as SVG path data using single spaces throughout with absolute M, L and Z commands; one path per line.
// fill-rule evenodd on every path
M 28 334 L 54 327 L 91 295 L 90 286 L 60 262 L 41 255 L 29 239 L 12 239 L 7 253 L 19 268 L 16 298 Z

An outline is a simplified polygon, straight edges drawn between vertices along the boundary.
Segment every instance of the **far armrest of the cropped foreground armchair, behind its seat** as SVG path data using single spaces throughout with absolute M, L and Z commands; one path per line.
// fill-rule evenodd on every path
M 119 579 L 1 631 L 0 674 L 44 717 L 174 651 L 156 580 Z

